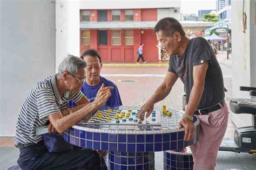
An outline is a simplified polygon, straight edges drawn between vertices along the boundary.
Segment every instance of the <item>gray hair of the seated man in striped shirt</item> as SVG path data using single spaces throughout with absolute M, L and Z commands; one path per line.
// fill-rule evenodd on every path
M 75 75 L 79 68 L 85 68 L 86 61 L 77 56 L 68 55 L 59 65 L 57 77 L 62 76 L 62 73 L 68 71 L 70 74 Z

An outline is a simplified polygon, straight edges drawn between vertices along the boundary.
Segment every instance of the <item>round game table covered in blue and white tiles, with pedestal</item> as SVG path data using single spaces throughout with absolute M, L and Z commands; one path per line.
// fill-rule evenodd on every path
M 104 115 L 110 109 L 113 114 L 127 110 L 134 111 L 137 116 L 140 107 L 104 107 L 100 110 Z M 177 129 L 183 113 L 166 109 L 170 113 L 166 114 L 164 110 L 155 107 L 152 112 L 152 115 L 161 115 L 160 124 L 88 123 L 91 120 L 87 119 L 66 130 L 64 139 L 83 148 L 109 151 L 111 169 L 154 169 L 154 152 L 177 150 L 192 145 L 197 142 L 199 133 L 199 120 L 194 116 L 193 123 L 196 126 L 194 138 L 191 141 L 184 141 L 184 129 Z

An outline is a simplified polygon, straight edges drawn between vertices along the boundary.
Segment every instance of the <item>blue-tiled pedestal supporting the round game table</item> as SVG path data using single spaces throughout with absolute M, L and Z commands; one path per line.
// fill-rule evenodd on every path
M 154 152 L 109 152 L 110 169 L 154 169 Z

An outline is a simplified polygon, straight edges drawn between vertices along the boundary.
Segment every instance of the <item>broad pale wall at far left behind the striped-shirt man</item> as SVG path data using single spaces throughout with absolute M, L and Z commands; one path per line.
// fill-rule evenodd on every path
M 55 73 L 54 1 L 0 1 L 0 136 L 14 136 L 32 86 Z

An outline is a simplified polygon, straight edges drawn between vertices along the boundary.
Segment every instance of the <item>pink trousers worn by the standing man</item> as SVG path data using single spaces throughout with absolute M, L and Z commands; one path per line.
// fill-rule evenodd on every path
M 208 115 L 198 115 L 201 129 L 198 142 L 190 146 L 194 160 L 194 170 L 214 169 L 221 141 L 227 129 L 228 108 L 213 111 Z

